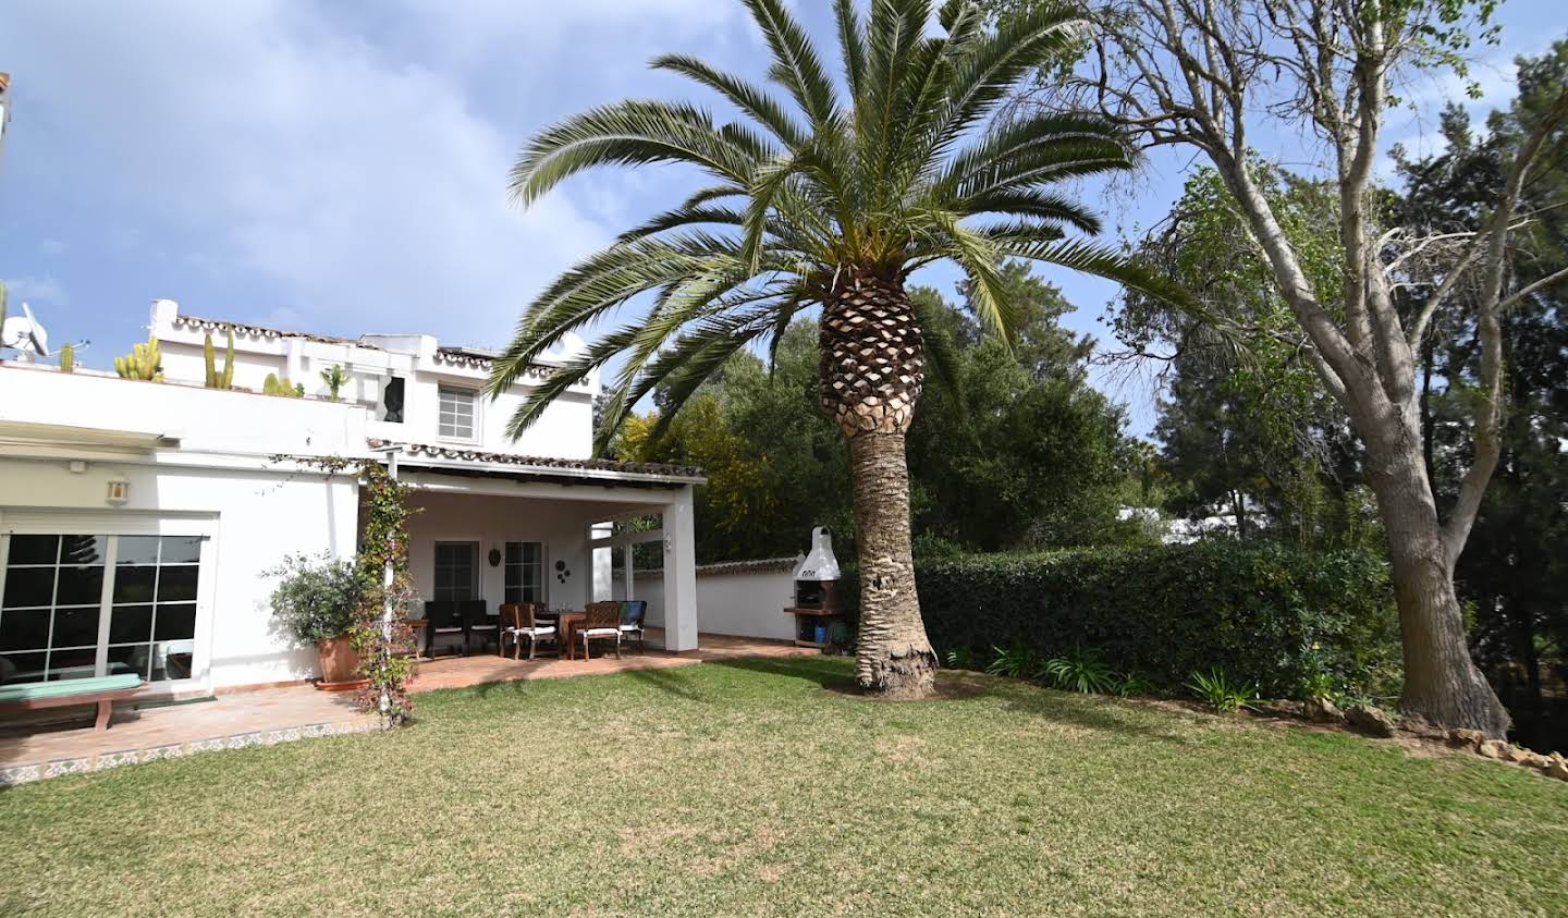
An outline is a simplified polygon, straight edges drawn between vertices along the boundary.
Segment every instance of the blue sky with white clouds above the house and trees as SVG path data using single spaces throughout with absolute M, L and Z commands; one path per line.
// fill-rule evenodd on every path
M 831 50 L 828 0 L 793 6 Z M 1502 25 L 1475 69 L 1477 111 L 1505 102 L 1516 53 L 1568 33 L 1568 3 L 1508 0 Z M 8 0 L 0 276 L 52 342 L 91 339 L 78 359 L 96 367 L 146 336 L 163 297 L 262 325 L 500 344 L 543 284 L 691 185 L 674 169 L 602 171 L 528 212 L 505 195 L 517 146 L 566 115 L 624 96 L 712 102 L 644 67 L 662 52 L 765 71 L 728 0 Z M 1419 149 L 1433 126 L 1428 107 L 1388 140 Z M 1137 234 L 1189 162 L 1165 155 L 1083 193 L 1112 237 Z M 1113 287 L 1044 273 L 1079 304 L 1069 323 L 1104 336 Z M 1148 430 L 1148 373 L 1096 383 Z

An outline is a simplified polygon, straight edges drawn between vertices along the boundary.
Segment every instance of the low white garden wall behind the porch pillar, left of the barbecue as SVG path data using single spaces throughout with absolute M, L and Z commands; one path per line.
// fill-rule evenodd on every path
M 784 609 L 795 603 L 792 579 L 798 559 L 723 562 L 696 568 L 696 625 L 702 634 L 793 640 L 795 618 Z M 663 628 L 663 574 L 637 571 L 632 598 L 648 601 L 648 623 Z M 615 573 L 615 598 L 626 596 L 622 571 Z

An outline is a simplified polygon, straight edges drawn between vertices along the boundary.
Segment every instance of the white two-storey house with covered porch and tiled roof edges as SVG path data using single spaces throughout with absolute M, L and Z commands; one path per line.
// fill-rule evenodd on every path
M 154 303 L 151 330 L 162 383 L 0 362 L 0 681 L 136 672 L 201 695 L 314 675 L 315 651 L 273 632 L 263 571 L 285 554 L 353 556 L 359 482 L 284 457 L 395 454 L 417 488 L 409 560 L 425 599 L 580 607 L 612 598 L 615 548 L 659 541 L 665 576 L 648 587 L 665 647 L 696 647 L 702 479 L 590 458 L 597 378 L 513 443 L 506 419 L 546 366 L 492 402 L 480 394 L 491 355 L 423 334 L 348 341 L 171 300 Z M 205 388 L 202 341 L 223 369 L 229 331 L 235 388 Z M 339 402 L 321 380 L 334 366 L 348 377 Z M 268 373 L 306 397 L 262 394 Z M 662 529 L 610 535 L 610 521 L 651 513 Z

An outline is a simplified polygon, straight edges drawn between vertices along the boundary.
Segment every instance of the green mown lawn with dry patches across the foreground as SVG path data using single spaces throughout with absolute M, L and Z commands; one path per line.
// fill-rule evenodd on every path
M 390 734 L 14 788 L 0 915 L 1568 912 L 1568 783 L 985 676 L 864 701 L 847 675 L 436 692 Z

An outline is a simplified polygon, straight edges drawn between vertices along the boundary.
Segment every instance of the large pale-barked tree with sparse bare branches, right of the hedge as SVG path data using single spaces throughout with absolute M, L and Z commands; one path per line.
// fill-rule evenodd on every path
M 1408 714 L 1502 736 L 1508 714 L 1469 656 L 1454 566 L 1497 464 L 1502 403 L 1499 317 L 1560 275 L 1526 287 L 1507 270 L 1510 234 L 1530 220 L 1521 188 L 1565 143 L 1557 97 L 1505 163 L 1502 191 L 1479 232 L 1461 237 L 1385 226 L 1374 165 L 1405 75 L 1463 69 L 1469 0 L 1107 0 L 1087 69 L 1069 78 L 1148 146 L 1184 146 L 1218 169 L 1237 212 L 1300 325 L 1300 342 L 1366 444 L 1366 474 L 1388 530 L 1405 648 Z M 1319 149 L 1338 188 L 1342 275 L 1314 284 L 1259 182 L 1254 133 Z M 1441 264 L 1428 257 L 1446 253 Z M 1419 267 L 1417 267 L 1419 265 Z M 1400 315 L 1394 290 L 1422 284 Z M 1433 317 L 1477 311 L 1480 373 L 1472 392 L 1471 463 L 1457 501 L 1439 507 L 1422 460 L 1416 353 Z

